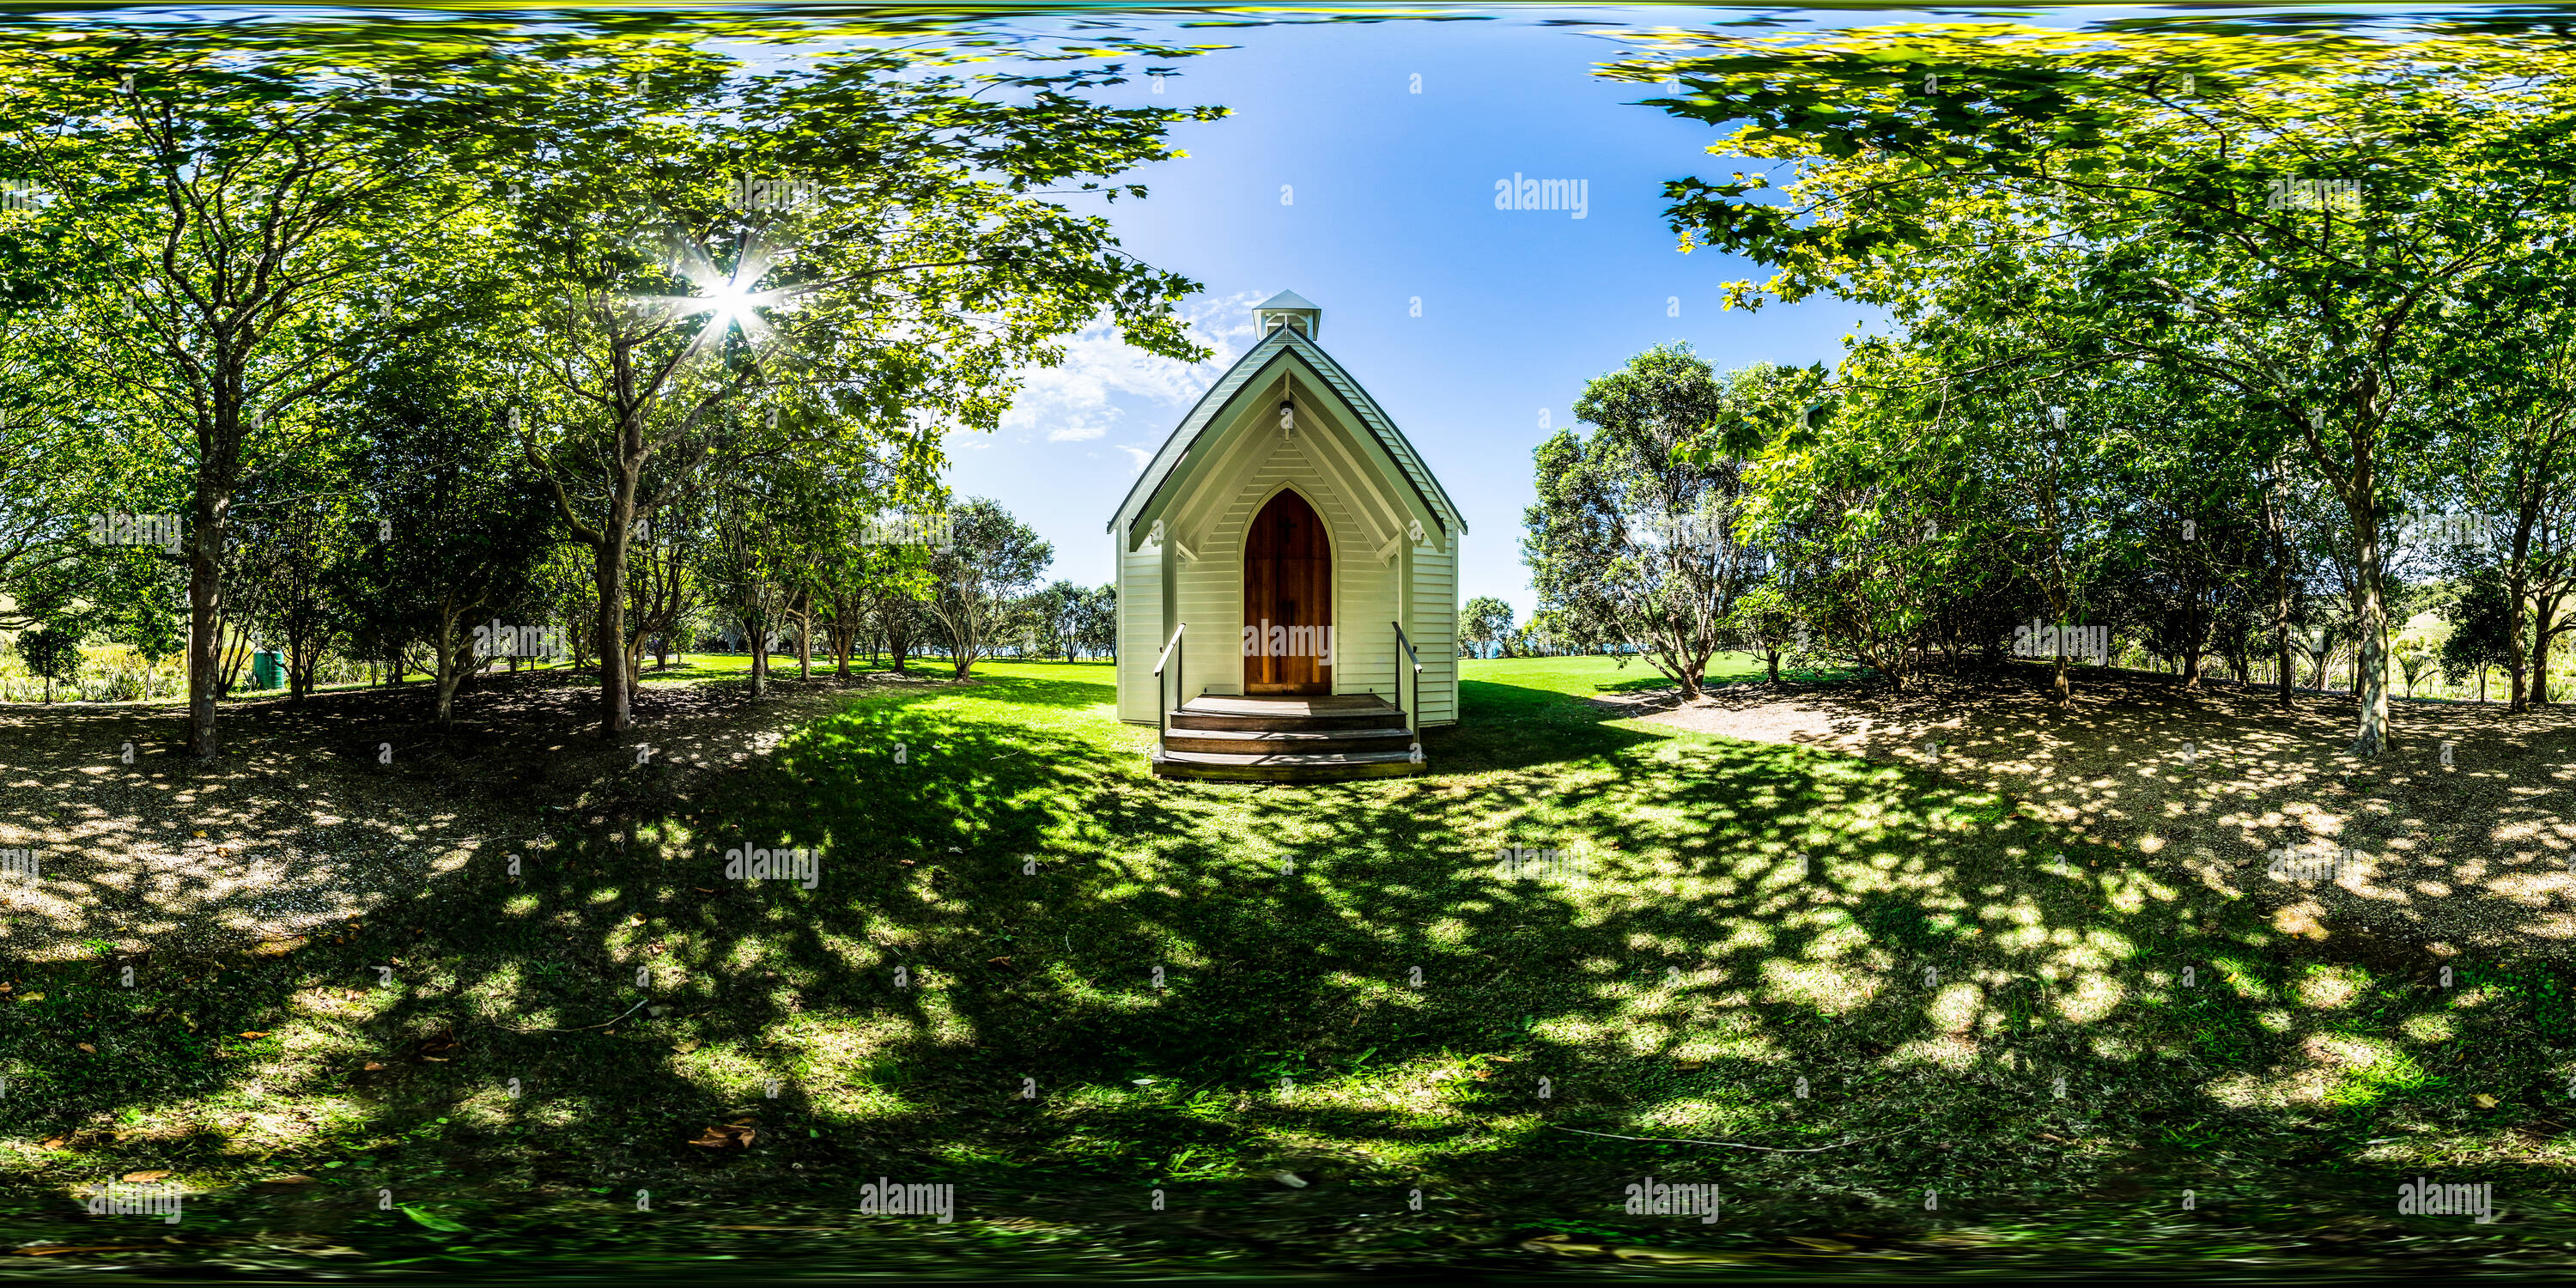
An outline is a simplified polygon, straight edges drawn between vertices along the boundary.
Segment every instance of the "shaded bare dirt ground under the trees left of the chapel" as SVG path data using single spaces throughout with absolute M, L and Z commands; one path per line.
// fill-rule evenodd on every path
M 487 848 L 544 845 L 621 793 L 641 747 L 657 765 L 714 768 L 773 747 L 858 685 L 938 683 L 884 672 L 770 698 L 747 683 L 647 683 L 636 732 L 598 737 L 598 688 L 492 675 L 430 724 L 428 685 L 224 703 L 224 752 L 185 755 L 175 703 L 0 711 L 0 850 L 33 850 L 36 878 L 0 873 L 0 958 L 70 958 L 85 943 L 193 953 L 281 943 L 417 894 Z M 134 760 L 126 762 L 131 744 Z M 685 778 L 683 778 L 685 786 Z

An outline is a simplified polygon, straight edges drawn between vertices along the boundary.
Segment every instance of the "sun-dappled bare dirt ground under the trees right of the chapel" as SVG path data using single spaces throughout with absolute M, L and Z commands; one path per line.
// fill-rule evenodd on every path
M 2251 894 L 2282 933 L 2576 951 L 2576 708 L 2396 701 L 2393 744 L 2372 762 L 2344 755 L 2344 696 L 2300 693 L 2282 711 L 2269 690 L 2079 672 L 2074 703 L 2056 711 L 2032 675 L 1932 675 L 1901 696 L 1741 683 L 1690 706 L 1672 693 L 1600 701 L 1999 791 L 2138 853 L 2161 881 Z M 2275 871 L 2277 850 L 2311 876 Z

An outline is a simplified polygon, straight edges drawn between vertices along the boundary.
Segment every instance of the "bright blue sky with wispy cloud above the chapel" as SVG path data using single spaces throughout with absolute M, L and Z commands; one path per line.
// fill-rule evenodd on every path
M 1188 312 L 1216 361 L 1082 335 L 1061 368 L 1030 374 L 999 433 L 951 438 L 953 492 L 994 497 L 1054 541 L 1051 577 L 1110 580 L 1110 510 L 1249 345 L 1249 307 L 1275 291 L 1324 309 L 1324 348 L 1466 510 L 1461 598 L 1497 595 L 1517 616 L 1533 605 L 1520 515 L 1535 497 L 1530 448 L 1551 433 L 1543 412 L 1571 422 L 1587 379 L 1662 340 L 1690 340 L 1721 368 L 1834 361 L 1865 314 L 1837 301 L 1721 312 L 1721 286 L 1757 268 L 1680 255 L 1662 185 L 1736 165 L 1705 152 L 1713 129 L 1589 75 L 1620 57 L 1618 41 L 1522 18 L 1170 36 L 1239 49 L 1188 59 L 1159 100 L 1234 116 L 1182 126 L 1190 155 L 1141 170 L 1151 198 L 1108 214 L 1133 255 L 1206 286 Z M 1587 180 L 1584 219 L 1497 211 L 1494 180 L 1515 173 Z

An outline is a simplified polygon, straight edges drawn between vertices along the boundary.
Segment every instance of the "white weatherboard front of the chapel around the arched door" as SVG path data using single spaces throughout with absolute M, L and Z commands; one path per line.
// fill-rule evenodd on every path
M 1296 404 L 1288 433 L 1283 399 Z M 1118 719 L 1154 724 L 1159 703 L 1244 690 L 1244 536 L 1288 487 L 1332 541 L 1332 690 L 1401 701 L 1417 726 L 1455 724 L 1466 526 L 1386 412 L 1301 330 L 1270 330 L 1252 345 L 1110 520 Z M 1419 696 L 1409 665 L 1399 670 L 1396 621 L 1422 654 Z M 1167 675 L 1157 696 L 1154 659 L 1177 623 L 1188 623 L 1180 683 Z

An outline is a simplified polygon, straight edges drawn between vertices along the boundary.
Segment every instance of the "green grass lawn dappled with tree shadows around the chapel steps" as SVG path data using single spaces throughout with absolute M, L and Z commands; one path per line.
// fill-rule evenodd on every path
M 459 781 L 510 824 L 294 948 L 10 974 L 0 1234 L 108 1242 L 67 1188 L 155 1170 L 245 1265 L 2563 1255 L 2545 961 L 2445 987 L 1994 791 L 1584 701 L 1641 665 L 1468 662 L 1430 775 L 1319 788 L 1149 778 L 1108 665 L 979 677 Z M 1723 1216 L 1625 1213 L 1649 1172 Z M 2517 1218 L 2396 1216 L 2414 1175 Z M 878 1177 L 958 1224 L 853 1216 Z

